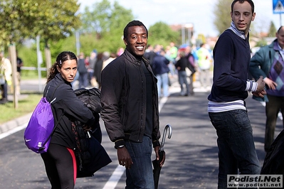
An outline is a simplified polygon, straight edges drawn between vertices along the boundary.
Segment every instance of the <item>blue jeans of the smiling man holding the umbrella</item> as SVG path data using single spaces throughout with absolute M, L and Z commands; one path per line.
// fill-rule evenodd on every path
M 153 189 L 152 139 L 143 137 L 142 143 L 125 141 L 125 147 L 132 158 L 132 166 L 126 169 L 125 189 Z

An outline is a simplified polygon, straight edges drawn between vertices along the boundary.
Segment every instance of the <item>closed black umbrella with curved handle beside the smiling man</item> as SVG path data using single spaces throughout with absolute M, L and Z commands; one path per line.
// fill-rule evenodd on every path
M 167 124 L 164 127 L 164 134 L 163 134 L 163 138 L 162 138 L 162 142 L 161 142 L 161 146 L 159 147 L 159 160 L 155 159 L 154 161 L 152 161 L 153 163 L 153 175 L 154 175 L 154 185 L 155 188 L 158 188 L 158 183 L 159 183 L 159 173 L 161 173 L 161 169 L 162 167 L 159 166 L 160 161 L 163 159 L 165 152 L 164 152 L 164 140 L 166 139 L 166 134 L 167 134 L 167 130 L 169 129 L 169 136 L 168 139 L 171 139 L 172 137 L 172 126 L 170 126 L 169 124 Z

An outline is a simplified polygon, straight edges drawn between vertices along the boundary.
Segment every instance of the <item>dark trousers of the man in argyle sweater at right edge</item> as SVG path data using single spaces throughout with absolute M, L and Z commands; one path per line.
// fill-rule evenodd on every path
M 278 112 L 280 111 L 284 118 L 284 97 L 276 97 L 267 95 L 268 102 L 265 105 L 266 113 L 266 124 L 265 124 L 265 139 L 264 139 L 264 148 L 265 151 L 268 151 L 271 144 L 274 141 L 274 132 L 276 121 L 278 117 Z M 283 127 L 284 127 L 284 119 Z

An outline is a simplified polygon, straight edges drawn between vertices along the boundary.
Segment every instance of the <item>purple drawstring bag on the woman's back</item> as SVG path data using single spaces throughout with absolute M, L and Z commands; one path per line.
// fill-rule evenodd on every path
M 44 153 L 48 149 L 53 134 L 54 119 L 51 104 L 42 97 L 33 110 L 28 126 L 23 134 L 26 146 L 36 153 Z

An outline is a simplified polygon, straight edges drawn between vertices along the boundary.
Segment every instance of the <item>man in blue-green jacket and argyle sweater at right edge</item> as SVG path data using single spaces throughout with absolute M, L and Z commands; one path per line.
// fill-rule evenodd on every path
M 284 27 L 280 26 L 276 33 L 276 39 L 263 46 L 251 58 L 250 72 L 254 78 L 263 75 L 267 95 L 254 97 L 265 102 L 265 139 L 264 148 L 267 152 L 274 140 L 275 126 L 278 112 L 284 117 Z M 284 126 L 284 120 L 283 120 Z

